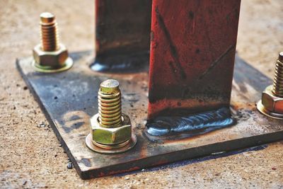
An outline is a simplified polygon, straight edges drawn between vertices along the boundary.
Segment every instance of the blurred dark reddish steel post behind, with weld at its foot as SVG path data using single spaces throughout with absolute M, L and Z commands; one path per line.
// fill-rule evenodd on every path
M 149 63 L 151 0 L 96 0 L 96 71 Z

